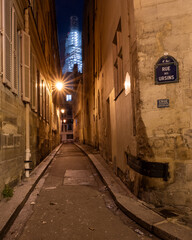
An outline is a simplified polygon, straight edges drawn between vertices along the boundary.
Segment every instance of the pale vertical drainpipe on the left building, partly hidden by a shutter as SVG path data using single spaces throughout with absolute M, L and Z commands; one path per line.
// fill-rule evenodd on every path
M 29 34 L 29 8 L 25 9 L 25 32 Z M 26 119 L 26 149 L 25 149 L 25 176 L 28 178 L 30 173 L 30 158 L 31 158 L 31 151 L 30 151 L 30 124 L 29 124 L 29 112 L 30 106 L 29 103 L 26 102 L 25 105 L 25 119 Z

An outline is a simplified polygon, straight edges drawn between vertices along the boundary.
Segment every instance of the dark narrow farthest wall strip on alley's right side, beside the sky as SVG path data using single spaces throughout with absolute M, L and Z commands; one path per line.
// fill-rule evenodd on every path
M 84 11 L 83 53 L 83 142 L 95 146 L 95 84 L 94 84 L 94 2 L 86 1 Z

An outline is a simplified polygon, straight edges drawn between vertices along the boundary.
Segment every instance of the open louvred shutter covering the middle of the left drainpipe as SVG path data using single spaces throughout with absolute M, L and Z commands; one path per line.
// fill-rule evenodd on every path
M 30 36 L 22 31 L 23 101 L 30 102 Z

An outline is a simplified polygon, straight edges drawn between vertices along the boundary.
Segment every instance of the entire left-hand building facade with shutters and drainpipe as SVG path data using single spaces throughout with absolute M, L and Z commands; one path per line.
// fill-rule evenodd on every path
M 0 0 L 0 192 L 59 144 L 59 74 L 54 1 Z

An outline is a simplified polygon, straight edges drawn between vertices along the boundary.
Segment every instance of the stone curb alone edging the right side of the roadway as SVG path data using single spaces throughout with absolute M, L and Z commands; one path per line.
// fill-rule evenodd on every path
M 108 187 L 117 206 L 131 219 L 138 223 L 143 228 L 165 240 L 191 240 L 192 229 L 183 226 L 179 223 L 170 222 L 168 219 L 162 217 L 157 212 L 148 208 L 142 201 L 132 199 L 129 196 L 119 194 L 116 189 L 118 183 L 111 173 L 97 160 L 94 154 L 86 151 L 83 145 L 75 143 L 91 160 L 97 172 L 101 176 L 103 182 Z M 86 146 L 86 145 L 85 145 Z M 121 187 L 119 185 L 119 187 Z

